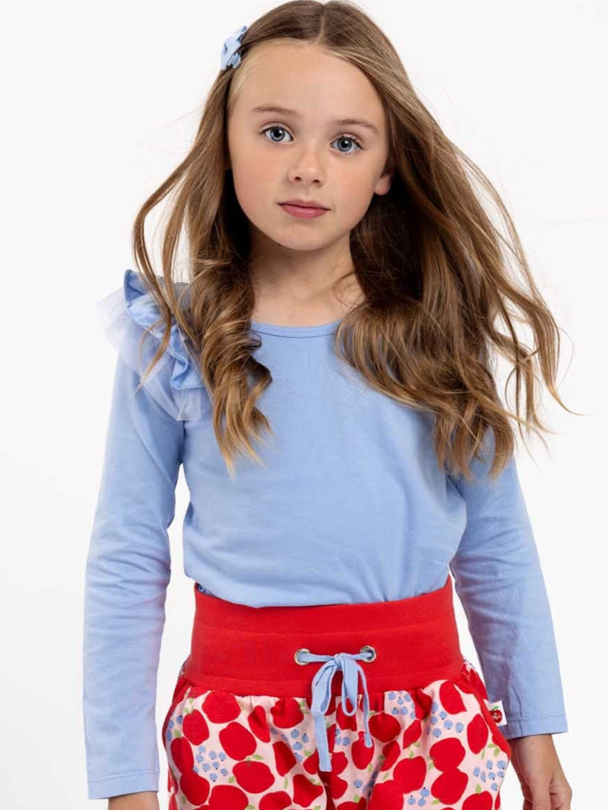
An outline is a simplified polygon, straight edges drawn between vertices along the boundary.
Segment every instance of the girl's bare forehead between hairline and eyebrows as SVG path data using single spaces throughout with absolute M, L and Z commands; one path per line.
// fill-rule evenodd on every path
M 256 45 L 236 68 L 234 112 L 249 116 L 261 105 L 276 104 L 303 120 L 367 118 L 383 122 L 381 98 L 358 67 L 308 43 L 273 40 Z M 236 76 L 234 77 L 237 78 Z

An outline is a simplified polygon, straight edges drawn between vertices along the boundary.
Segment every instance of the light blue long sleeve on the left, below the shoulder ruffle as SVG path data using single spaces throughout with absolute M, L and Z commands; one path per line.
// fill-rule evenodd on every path
M 128 338 L 129 335 L 127 335 Z M 156 681 L 184 424 L 119 356 L 87 556 L 83 720 L 89 799 L 158 791 Z

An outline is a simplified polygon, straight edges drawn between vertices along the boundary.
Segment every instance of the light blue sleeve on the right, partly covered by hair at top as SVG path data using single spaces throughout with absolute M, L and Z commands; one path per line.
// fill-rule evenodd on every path
M 475 480 L 453 484 L 466 530 L 450 562 L 454 586 L 491 701 L 503 701 L 505 738 L 568 731 L 551 609 L 515 457 L 498 479 L 494 450 L 474 459 Z

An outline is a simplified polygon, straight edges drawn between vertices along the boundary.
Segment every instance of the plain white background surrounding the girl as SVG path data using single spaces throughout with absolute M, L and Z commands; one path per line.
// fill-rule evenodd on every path
M 215 4 L 213 4 L 215 6 Z M 95 303 L 133 266 L 135 212 L 185 156 L 223 40 L 266 2 L 34 2 L 3 15 L 2 804 L 87 800 L 82 607 L 115 355 Z M 518 468 L 551 599 L 574 808 L 605 747 L 606 3 L 361 4 L 425 104 L 495 184 L 562 328 L 559 393 Z M 219 8 L 219 6 L 217 6 Z M 511 394 L 512 395 L 512 394 Z M 513 402 L 513 400 L 511 400 Z M 188 651 L 183 477 L 157 721 Z M 461 647 L 475 664 L 457 603 Z M 160 807 L 166 806 L 160 751 Z M 598 781 L 599 780 L 599 781 Z M 521 807 L 508 772 L 503 807 Z

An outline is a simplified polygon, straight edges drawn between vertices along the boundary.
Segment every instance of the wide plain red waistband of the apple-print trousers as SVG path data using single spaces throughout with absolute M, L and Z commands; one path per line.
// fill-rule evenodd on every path
M 452 580 L 426 594 L 388 602 L 252 608 L 202 593 L 194 583 L 191 650 L 181 674 L 205 689 L 237 695 L 306 696 L 318 663 L 297 650 L 358 654 L 368 691 L 413 689 L 461 673 Z M 341 693 L 335 679 L 332 694 Z

